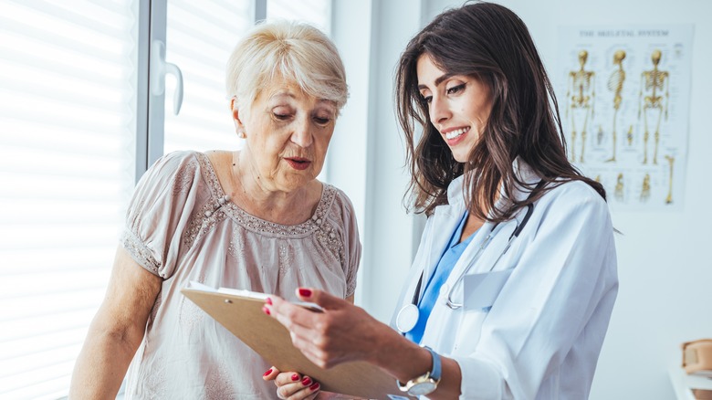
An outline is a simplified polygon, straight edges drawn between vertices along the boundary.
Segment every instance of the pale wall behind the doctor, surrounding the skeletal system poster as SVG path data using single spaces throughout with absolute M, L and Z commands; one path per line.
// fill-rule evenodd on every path
M 340 2 L 336 2 L 339 4 Z M 557 28 L 585 24 L 694 24 L 692 93 L 690 101 L 689 152 L 685 205 L 679 212 L 613 213 L 613 223 L 624 235 L 616 243 L 619 257 L 620 292 L 611 326 L 603 345 L 593 400 L 675 398 L 667 369 L 680 362 L 679 344 L 712 337 L 712 213 L 707 202 L 712 195 L 707 177 L 712 163 L 712 132 L 708 122 L 712 95 L 712 2 L 704 0 L 501 0 L 529 26 L 547 67 L 557 62 Z M 371 3 L 369 3 L 371 4 Z M 431 19 L 447 6 L 461 1 L 374 2 L 378 43 L 372 53 L 371 93 L 377 110 L 370 132 L 377 148 L 370 153 L 371 183 L 366 197 L 364 260 L 368 279 L 364 307 L 379 317 L 393 310 L 393 291 L 398 291 L 412 257 L 408 237 L 417 233 L 414 221 L 403 216 L 403 176 L 396 164 L 403 162 L 403 147 L 393 117 L 392 83 L 395 59 L 403 50 L 403 35 L 412 36 L 421 21 Z M 416 11 L 423 10 L 421 16 Z M 385 23 L 383 21 L 386 21 Z M 406 37 L 406 40 L 407 40 Z M 372 38 L 373 40 L 373 38 Z M 373 69 L 375 68 L 375 69 Z M 400 152 L 400 153 L 399 153 Z M 385 176 L 381 176 L 381 175 Z M 383 229 L 384 234 L 379 233 Z M 374 243 L 375 242 L 375 243 Z M 370 247 L 370 248 L 368 248 Z M 397 253 L 397 254 L 394 254 Z M 378 278 L 375 278 L 378 277 Z

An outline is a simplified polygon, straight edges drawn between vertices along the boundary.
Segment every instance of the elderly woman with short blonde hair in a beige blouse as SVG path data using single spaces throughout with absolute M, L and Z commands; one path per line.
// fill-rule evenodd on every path
M 257 26 L 229 60 L 227 89 L 244 149 L 170 153 L 143 175 L 71 398 L 114 397 L 130 363 L 127 398 L 272 397 L 256 375 L 269 365 L 183 297 L 191 280 L 352 302 L 354 212 L 316 179 L 347 97 L 336 47 L 308 25 Z

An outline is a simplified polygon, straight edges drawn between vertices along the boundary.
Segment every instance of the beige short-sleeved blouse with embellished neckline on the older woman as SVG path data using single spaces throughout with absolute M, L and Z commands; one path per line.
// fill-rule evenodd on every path
M 163 279 L 126 398 L 266 399 L 269 364 L 180 292 L 189 281 L 296 300 L 295 289 L 346 298 L 356 288 L 361 243 L 348 197 L 324 184 L 316 212 L 284 226 L 223 201 L 204 153 L 170 153 L 136 187 L 122 237 L 132 258 Z

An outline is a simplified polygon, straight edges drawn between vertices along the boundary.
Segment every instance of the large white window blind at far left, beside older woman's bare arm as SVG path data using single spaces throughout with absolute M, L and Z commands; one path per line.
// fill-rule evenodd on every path
M 135 163 L 137 0 L 0 0 L 0 398 L 56 399 Z

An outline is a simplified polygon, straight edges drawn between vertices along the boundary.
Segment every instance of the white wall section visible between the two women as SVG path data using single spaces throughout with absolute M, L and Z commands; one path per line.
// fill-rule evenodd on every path
M 381 321 L 390 320 L 422 230 L 422 218 L 403 210 L 409 174 L 393 109 L 395 65 L 421 27 L 421 3 L 333 5 L 332 36 L 346 65 L 351 98 L 330 144 L 328 178 L 350 195 L 359 217 L 363 254 L 356 303 Z

